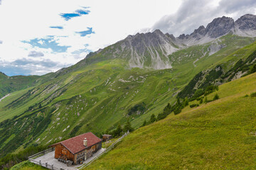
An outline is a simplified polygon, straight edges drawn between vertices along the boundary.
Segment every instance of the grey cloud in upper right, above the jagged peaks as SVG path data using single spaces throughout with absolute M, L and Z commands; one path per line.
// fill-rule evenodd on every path
M 183 0 L 176 13 L 163 16 L 149 30 L 160 29 L 175 36 L 190 34 L 214 18 L 228 16 L 236 20 L 247 13 L 255 14 L 255 9 L 255 0 Z

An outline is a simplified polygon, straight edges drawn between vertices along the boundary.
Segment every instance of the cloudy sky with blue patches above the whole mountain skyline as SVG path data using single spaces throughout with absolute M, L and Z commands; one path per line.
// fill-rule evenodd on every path
M 255 12 L 255 0 L 0 0 L 0 72 L 55 72 L 127 35 L 160 29 L 178 36 Z

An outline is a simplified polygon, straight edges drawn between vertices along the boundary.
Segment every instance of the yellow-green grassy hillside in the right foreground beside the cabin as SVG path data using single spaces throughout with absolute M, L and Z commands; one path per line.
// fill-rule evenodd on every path
M 219 100 L 139 128 L 87 169 L 256 169 L 255 91 L 256 74 L 223 84 Z

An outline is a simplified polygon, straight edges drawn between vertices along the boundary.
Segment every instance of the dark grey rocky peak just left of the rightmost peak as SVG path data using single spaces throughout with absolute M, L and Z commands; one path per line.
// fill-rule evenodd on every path
M 235 28 L 233 18 L 223 16 L 222 18 L 215 18 L 206 27 L 206 33 L 210 38 L 218 38 L 225 35 Z

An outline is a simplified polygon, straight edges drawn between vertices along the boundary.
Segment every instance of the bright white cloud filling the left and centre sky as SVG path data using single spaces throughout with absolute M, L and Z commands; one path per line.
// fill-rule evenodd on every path
M 98 50 L 141 28 L 151 27 L 161 16 L 174 13 L 180 2 L 160 1 L 63 1 L 63 0 L 4 0 L 0 6 L 0 46 L 1 60 L 14 62 L 27 58 L 31 51 L 41 51 L 44 60 L 53 60 L 63 64 L 75 64 L 87 55 L 73 52 L 85 49 Z M 88 15 L 65 21 L 60 13 L 73 13 L 83 6 L 88 6 Z M 61 26 L 63 30 L 50 26 Z M 95 34 L 81 37 L 78 33 L 92 28 Z M 53 53 L 50 49 L 33 47 L 28 43 L 35 38 L 55 35 L 54 40 L 61 46 L 71 46 L 66 52 Z M 39 41 L 43 44 L 43 41 Z M 43 61 L 42 57 L 36 60 Z M 54 69 L 54 68 L 53 68 Z M 0 70 L 1 71 L 1 70 Z

